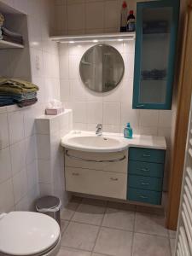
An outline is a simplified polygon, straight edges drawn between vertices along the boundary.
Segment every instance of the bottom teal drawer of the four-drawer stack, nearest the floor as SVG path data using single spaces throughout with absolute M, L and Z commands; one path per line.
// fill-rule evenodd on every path
M 160 205 L 161 204 L 161 192 L 143 190 L 143 189 L 131 189 L 127 190 L 128 201 L 139 201 L 143 203 Z

